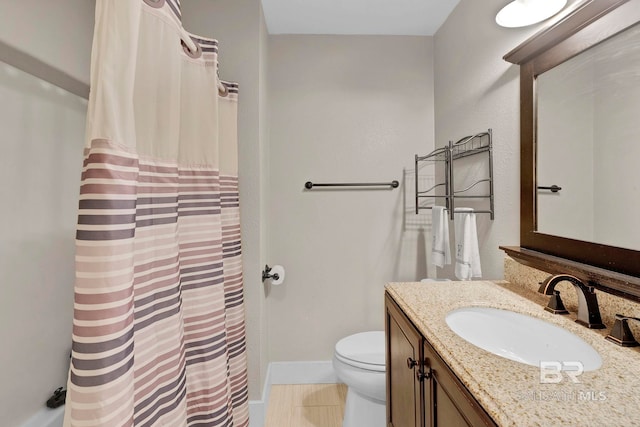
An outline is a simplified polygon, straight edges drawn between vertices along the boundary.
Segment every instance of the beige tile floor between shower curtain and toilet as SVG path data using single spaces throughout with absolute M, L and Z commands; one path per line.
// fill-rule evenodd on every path
M 265 427 L 341 427 L 344 384 L 274 384 Z

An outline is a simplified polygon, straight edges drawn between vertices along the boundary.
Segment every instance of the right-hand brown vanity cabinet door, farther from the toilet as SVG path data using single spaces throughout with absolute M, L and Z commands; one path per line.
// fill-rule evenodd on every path
M 423 352 L 424 369 L 430 374 L 424 382 L 425 427 L 495 426 L 426 340 Z

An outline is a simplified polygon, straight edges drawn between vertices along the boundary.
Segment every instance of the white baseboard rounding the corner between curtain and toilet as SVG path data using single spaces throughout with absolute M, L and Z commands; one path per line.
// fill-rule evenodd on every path
M 331 361 L 271 362 L 262 389 L 262 400 L 249 401 L 249 427 L 264 427 L 272 384 L 338 383 Z

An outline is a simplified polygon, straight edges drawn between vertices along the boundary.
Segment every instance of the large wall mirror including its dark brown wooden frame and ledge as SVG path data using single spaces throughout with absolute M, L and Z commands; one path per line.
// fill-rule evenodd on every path
M 601 290 L 636 300 L 640 239 L 620 235 L 640 228 L 633 220 L 637 205 L 630 200 L 640 199 L 640 168 L 634 163 L 640 158 L 640 133 L 623 124 L 640 122 L 639 85 L 637 80 L 630 83 L 633 91 L 592 89 L 591 82 L 619 84 L 627 75 L 638 79 L 638 22 L 640 0 L 576 2 L 504 57 L 520 66 L 521 201 L 520 247 L 503 249 L 535 268 L 570 272 Z M 636 47 L 622 53 L 616 43 L 627 42 Z M 601 55 L 609 59 L 601 60 Z M 607 63 L 612 58 L 616 63 Z M 605 71 L 608 77 L 601 74 Z M 560 174 L 563 169 L 566 175 Z M 559 193 L 538 190 L 554 184 L 562 188 Z M 582 206 L 577 201 L 557 204 L 580 193 Z M 631 222 L 622 223 L 622 212 Z M 596 222 L 616 223 L 626 233 L 596 230 Z

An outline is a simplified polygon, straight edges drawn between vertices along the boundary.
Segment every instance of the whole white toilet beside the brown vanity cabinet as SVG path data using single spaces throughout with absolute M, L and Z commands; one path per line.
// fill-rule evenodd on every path
M 348 387 L 342 427 L 386 427 L 384 331 L 342 338 L 333 368 Z

